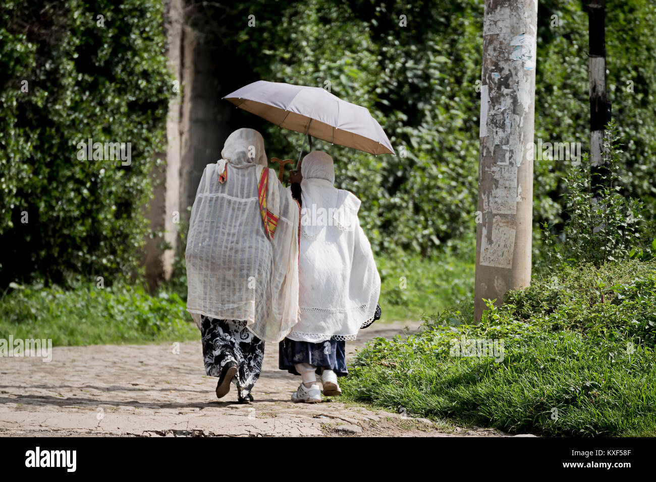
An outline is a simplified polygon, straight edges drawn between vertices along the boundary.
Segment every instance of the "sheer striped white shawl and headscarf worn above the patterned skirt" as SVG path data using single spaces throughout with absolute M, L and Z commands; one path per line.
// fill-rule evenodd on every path
M 279 216 L 274 238 L 264 229 L 258 180 L 266 168 L 255 130 L 230 135 L 223 159 L 208 164 L 198 186 L 187 236 L 187 310 L 247 320 L 266 342 L 280 341 L 298 316 L 298 204 L 269 170 L 267 206 Z M 227 164 L 227 179 L 218 180 Z

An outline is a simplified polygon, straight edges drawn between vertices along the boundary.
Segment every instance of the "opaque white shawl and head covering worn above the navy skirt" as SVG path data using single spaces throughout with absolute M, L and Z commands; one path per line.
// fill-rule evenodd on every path
M 300 169 L 298 324 L 287 337 L 354 340 L 373 319 L 380 295 L 371 245 L 358 221 L 360 200 L 333 187 L 335 168 L 326 153 L 308 154 Z

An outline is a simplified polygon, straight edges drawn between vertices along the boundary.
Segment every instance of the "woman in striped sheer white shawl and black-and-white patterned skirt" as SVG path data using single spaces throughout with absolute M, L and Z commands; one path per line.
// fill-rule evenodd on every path
M 203 172 L 187 236 L 187 310 L 201 330 L 216 396 L 253 400 L 264 343 L 297 322 L 298 203 L 267 168 L 253 129 L 230 134 Z

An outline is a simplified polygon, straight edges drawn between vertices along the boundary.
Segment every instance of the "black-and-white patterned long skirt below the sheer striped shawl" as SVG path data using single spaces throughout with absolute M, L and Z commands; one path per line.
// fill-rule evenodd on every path
M 264 341 L 253 335 L 245 321 L 216 320 L 201 316 L 201 340 L 205 373 L 209 377 L 220 377 L 228 362 L 237 364 L 236 384 L 241 398 L 253 390 L 260 378 L 264 360 Z

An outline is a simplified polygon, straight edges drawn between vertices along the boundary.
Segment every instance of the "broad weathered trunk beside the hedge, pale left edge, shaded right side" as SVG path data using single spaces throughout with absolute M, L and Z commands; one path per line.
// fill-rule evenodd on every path
M 224 79 L 216 57 L 223 50 L 203 42 L 203 33 L 192 28 L 188 1 L 168 0 L 165 6 L 171 89 L 176 95 L 169 103 L 166 166 L 153 173 L 157 187 L 148 206 L 152 230 L 163 231 L 163 237 L 146 240 L 144 263 L 151 288 L 171 278 L 175 256 L 184 253 L 178 231 L 188 224 L 188 207 L 194 204 L 205 166 L 221 157 L 234 110 L 220 100 Z M 163 249 L 162 242 L 169 249 Z

